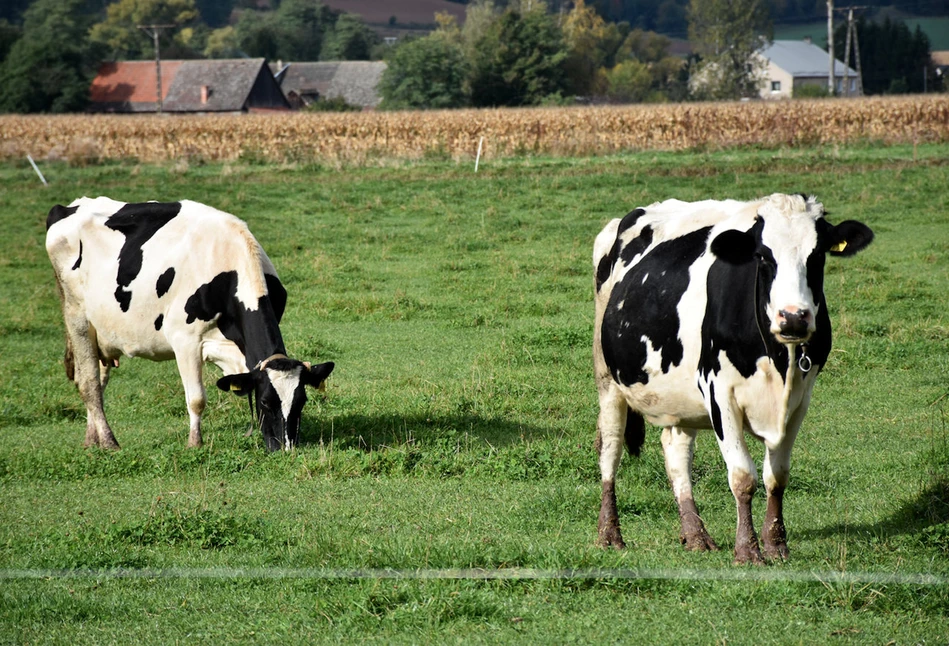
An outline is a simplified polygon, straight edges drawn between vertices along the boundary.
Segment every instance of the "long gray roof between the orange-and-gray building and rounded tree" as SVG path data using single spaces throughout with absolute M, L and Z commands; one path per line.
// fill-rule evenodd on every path
M 285 94 L 318 94 L 320 98 L 342 97 L 350 105 L 374 108 L 381 97 L 376 86 L 386 69 L 383 61 L 329 61 L 288 63 L 280 75 Z M 279 70 L 271 69 L 276 73 Z

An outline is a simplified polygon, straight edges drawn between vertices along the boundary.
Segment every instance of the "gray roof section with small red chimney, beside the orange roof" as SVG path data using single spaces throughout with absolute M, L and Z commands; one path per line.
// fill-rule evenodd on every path
M 244 110 L 249 107 L 248 99 L 261 68 L 268 70 L 263 58 L 182 61 L 168 89 L 164 109 L 169 112 Z M 209 90 L 206 103 L 201 101 L 202 86 Z M 278 99 L 277 103 L 289 107 L 286 99 L 282 102 Z

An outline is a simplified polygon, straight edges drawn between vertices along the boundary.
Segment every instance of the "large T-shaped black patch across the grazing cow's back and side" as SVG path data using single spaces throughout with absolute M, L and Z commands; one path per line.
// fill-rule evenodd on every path
M 142 270 L 142 245 L 181 211 L 180 202 L 144 202 L 126 204 L 105 222 L 105 226 L 125 236 L 119 252 L 119 270 L 115 282 L 115 300 L 123 312 L 129 310 L 132 293 L 128 286 Z

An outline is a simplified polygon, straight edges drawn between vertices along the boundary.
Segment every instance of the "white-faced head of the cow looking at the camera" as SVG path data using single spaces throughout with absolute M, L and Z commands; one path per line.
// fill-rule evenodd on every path
M 778 342 L 797 344 L 815 330 L 825 255 L 852 256 L 872 241 L 873 232 L 860 222 L 827 222 L 813 197 L 775 194 L 758 209 L 750 230 L 723 231 L 711 250 L 730 264 L 756 263 L 756 310 L 764 308 L 763 325 Z

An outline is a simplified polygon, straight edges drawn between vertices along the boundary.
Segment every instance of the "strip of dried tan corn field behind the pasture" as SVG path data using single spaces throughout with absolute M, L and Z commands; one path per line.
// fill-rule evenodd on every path
M 373 164 L 949 140 L 944 95 L 439 112 L 0 116 L 0 159 Z

